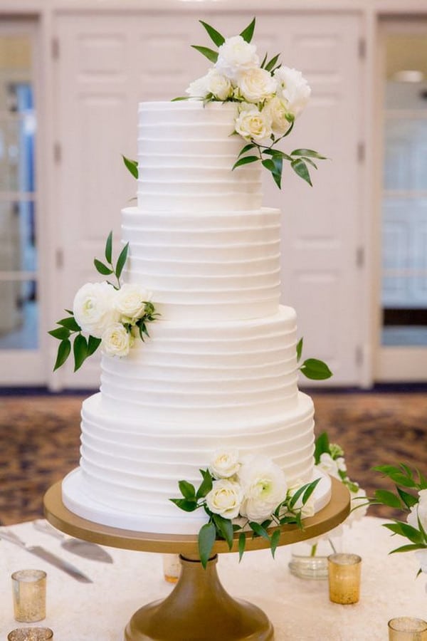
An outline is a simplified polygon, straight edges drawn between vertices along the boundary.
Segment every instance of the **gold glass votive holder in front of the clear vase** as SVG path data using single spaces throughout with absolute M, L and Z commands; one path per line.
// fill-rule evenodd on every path
M 357 603 L 360 597 L 362 558 L 357 554 L 337 553 L 330 554 L 327 561 L 332 603 Z

